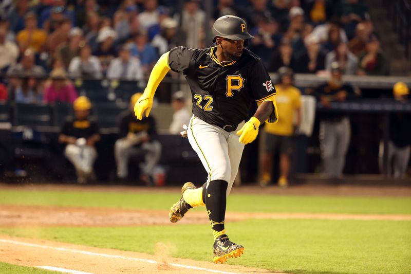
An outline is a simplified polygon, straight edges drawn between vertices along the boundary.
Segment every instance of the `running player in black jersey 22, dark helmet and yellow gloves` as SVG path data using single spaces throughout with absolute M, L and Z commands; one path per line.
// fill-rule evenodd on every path
M 226 198 L 237 175 L 244 145 L 257 137 L 261 122 L 276 122 L 275 89 L 263 62 L 244 43 L 253 38 L 244 20 L 222 16 L 213 26 L 216 46 L 206 49 L 176 47 L 164 53 L 151 72 L 144 94 L 135 105 L 138 119 L 150 114 L 157 86 L 171 69 L 182 72 L 192 93 L 193 116 L 187 131 L 190 144 L 208 173 L 196 189 L 186 182 L 182 196 L 170 210 L 179 221 L 192 207 L 206 206 L 214 235 L 214 262 L 239 257 L 244 247 L 225 232 Z M 248 119 L 252 101 L 258 108 Z

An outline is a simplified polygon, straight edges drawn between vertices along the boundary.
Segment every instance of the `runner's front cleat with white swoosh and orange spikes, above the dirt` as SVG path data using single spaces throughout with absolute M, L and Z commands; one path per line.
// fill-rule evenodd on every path
M 228 239 L 227 235 L 222 235 L 217 240 L 215 240 L 213 247 L 213 261 L 216 264 L 223 264 L 227 262 L 228 258 L 237 258 L 240 257 L 242 253 L 244 253 L 244 246 L 231 242 Z

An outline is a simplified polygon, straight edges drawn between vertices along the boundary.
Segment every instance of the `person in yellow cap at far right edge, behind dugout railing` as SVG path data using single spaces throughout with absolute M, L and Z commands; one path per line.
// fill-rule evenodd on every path
M 408 102 L 409 88 L 398 82 L 393 88 L 394 99 L 401 103 Z M 394 178 L 404 178 L 411 151 L 411 115 L 392 113 L 389 115 L 388 174 Z M 383 171 L 384 143 L 380 142 L 379 163 Z M 392 168 L 391 168 L 392 165 Z

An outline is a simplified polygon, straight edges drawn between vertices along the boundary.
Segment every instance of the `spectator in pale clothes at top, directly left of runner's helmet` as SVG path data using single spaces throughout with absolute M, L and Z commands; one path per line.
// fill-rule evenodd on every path
M 203 48 L 204 46 L 204 22 L 206 12 L 200 9 L 199 1 L 188 0 L 182 10 L 182 31 L 185 35 L 185 46 L 189 48 Z M 178 16 L 175 19 L 178 20 Z

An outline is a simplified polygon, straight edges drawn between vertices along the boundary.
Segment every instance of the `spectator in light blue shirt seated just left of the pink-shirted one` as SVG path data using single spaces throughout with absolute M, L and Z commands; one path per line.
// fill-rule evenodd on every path
M 15 90 L 16 103 L 40 103 L 43 101 L 43 90 L 40 81 L 30 75 L 20 81 L 21 85 Z

